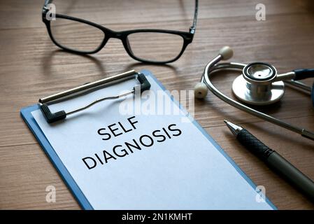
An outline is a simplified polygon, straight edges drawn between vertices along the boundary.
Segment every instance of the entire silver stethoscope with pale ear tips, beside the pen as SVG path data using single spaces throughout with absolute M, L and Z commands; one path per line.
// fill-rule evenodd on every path
M 313 87 L 310 87 L 298 81 L 314 77 L 314 69 L 297 69 L 288 73 L 278 74 L 274 66 L 264 62 L 253 62 L 250 64 L 241 64 L 236 62 L 218 63 L 221 60 L 230 59 L 233 54 L 233 50 L 226 46 L 220 50 L 217 57 L 212 59 L 206 65 L 204 73 L 201 76 L 200 83 L 197 83 L 194 88 L 195 97 L 199 99 L 205 98 L 209 89 L 218 98 L 227 102 L 227 104 L 236 107 L 237 109 L 241 109 L 242 111 L 279 125 L 280 127 L 284 127 L 287 130 L 297 132 L 303 137 L 314 140 L 314 132 L 285 123 L 283 120 L 279 120 L 265 113 L 256 111 L 250 106 L 245 105 L 269 105 L 278 102 L 285 93 L 285 84 L 297 87 L 310 93 L 314 105 L 314 84 Z M 223 70 L 242 71 L 242 74 L 238 76 L 232 84 L 232 92 L 237 99 L 245 104 L 227 97 L 225 94 L 217 90 L 213 83 L 211 83 L 210 76 L 217 71 Z M 285 80 L 285 83 L 283 80 Z

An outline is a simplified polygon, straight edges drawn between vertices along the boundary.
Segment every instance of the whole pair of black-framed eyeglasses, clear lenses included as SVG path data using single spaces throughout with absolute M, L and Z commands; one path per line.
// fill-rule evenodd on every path
M 125 50 L 132 58 L 146 63 L 164 64 L 176 61 L 192 43 L 197 27 L 198 0 L 195 0 L 194 19 L 190 31 L 166 29 L 134 29 L 113 31 L 94 22 L 56 13 L 55 20 L 49 20 L 48 4 L 43 6 L 43 22 L 48 34 L 59 48 L 78 54 L 98 52 L 110 38 L 122 41 Z

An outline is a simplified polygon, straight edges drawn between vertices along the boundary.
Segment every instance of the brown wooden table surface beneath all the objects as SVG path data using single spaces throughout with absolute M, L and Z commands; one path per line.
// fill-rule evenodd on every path
M 165 28 L 187 31 L 193 1 L 55 1 L 57 13 L 85 18 L 114 30 Z M 73 3 L 73 5 L 71 5 Z M 43 1 L 0 2 L 0 209 L 80 209 L 52 163 L 20 118 L 20 109 L 40 97 L 129 69 L 150 69 L 169 90 L 193 90 L 204 66 L 223 45 L 235 50 L 234 61 L 265 61 L 279 72 L 314 66 L 314 2 L 265 0 L 266 21 L 255 20 L 252 0 L 200 1 L 194 41 L 172 64 L 153 66 L 131 59 L 120 41 L 89 57 L 58 50 L 41 22 Z M 215 77 L 231 97 L 234 74 Z M 307 83 L 313 83 L 308 80 Z M 314 130 L 310 97 L 287 88 L 278 104 L 263 112 Z M 196 101 L 194 117 L 278 209 L 314 209 L 306 197 L 273 174 L 231 136 L 222 120 L 243 125 L 314 179 L 314 143 L 225 104 L 213 94 Z M 45 201 L 55 186 L 57 202 Z

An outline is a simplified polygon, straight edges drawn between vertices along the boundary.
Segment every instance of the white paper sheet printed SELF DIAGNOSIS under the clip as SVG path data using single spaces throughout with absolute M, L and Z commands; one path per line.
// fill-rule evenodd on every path
M 147 78 L 152 91 L 162 90 L 152 77 Z M 131 90 L 135 84 L 135 80 L 129 80 L 53 104 L 50 109 L 69 111 L 94 99 Z M 166 99 L 170 100 L 168 95 Z M 133 99 L 129 97 L 128 100 Z M 103 140 L 104 136 L 97 133 L 100 128 L 108 130 L 108 125 L 117 122 L 122 123 L 125 129 L 131 127 L 127 118 L 132 115 L 119 113 L 122 101 L 117 99 L 95 104 L 53 125 L 45 121 L 41 111 L 32 113 L 94 209 L 272 209 L 267 202 L 257 202 L 255 189 L 201 130 L 193 123 L 187 123 L 186 119 L 183 122 L 183 114 L 136 115 L 132 119 L 138 121 L 134 124 L 136 130 Z M 174 103 L 173 106 L 177 108 Z M 143 134 L 152 136 L 153 131 L 170 124 L 176 124 L 182 133 L 163 142 L 154 139 L 152 146 L 133 149 L 134 153 L 111 158 L 104 165 L 98 160 L 92 169 L 88 169 L 82 160 L 86 157 L 97 160 L 94 155 L 97 153 L 104 162 L 104 150 L 112 152 L 113 146 L 132 143 L 132 139 L 138 141 Z

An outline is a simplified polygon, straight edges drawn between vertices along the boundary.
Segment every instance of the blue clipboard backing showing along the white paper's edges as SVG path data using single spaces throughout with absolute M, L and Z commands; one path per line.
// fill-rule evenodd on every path
M 143 73 L 145 76 L 152 77 L 156 81 L 156 83 L 162 88 L 162 90 L 166 90 L 164 85 L 162 85 L 162 83 L 160 83 L 159 80 L 157 80 L 157 78 L 150 71 L 142 70 L 141 73 Z M 167 94 L 169 94 L 169 96 L 171 97 L 169 92 L 167 92 Z M 175 103 L 177 106 L 180 107 L 181 110 L 185 111 L 183 106 L 181 106 L 180 103 L 176 101 L 176 99 L 174 99 L 173 97 L 171 97 L 171 99 L 172 99 L 173 103 Z M 92 205 L 90 204 L 90 202 L 85 197 L 82 190 L 80 190 L 76 181 L 74 181 L 71 174 L 69 173 L 69 171 L 66 169 L 66 167 L 62 163 L 62 161 L 58 157 L 57 153 L 55 152 L 55 150 L 50 145 L 48 139 L 45 137 L 45 134 L 43 134 L 43 132 L 41 131 L 41 128 L 38 126 L 38 124 L 36 123 L 36 120 L 32 116 L 31 112 L 36 111 L 38 109 L 39 109 L 38 104 L 34 104 L 32 106 L 27 106 L 27 107 L 21 109 L 20 114 L 21 114 L 22 118 L 24 119 L 25 123 L 27 123 L 27 125 L 29 126 L 29 129 L 31 130 L 31 132 L 33 132 L 38 143 L 41 145 L 41 148 L 43 148 L 45 153 L 50 158 L 50 161 L 52 162 L 52 164 L 57 169 L 57 172 L 59 172 L 60 176 L 62 177 L 62 179 L 64 180 L 66 185 L 69 187 L 69 189 L 73 193 L 74 197 L 76 197 L 76 200 L 80 204 L 80 207 L 82 207 L 83 209 L 87 209 L 87 210 L 94 209 L 92 207 Z M 185 114 L 188 114 L 188 113 L 185 113 Z M 201 131 L 202 134 L 204 134 L 204 136 L 208 139 L 208 141 L 210 141 L 215 146 L 215 148 L 217 148 L 217 150 L 220 153 L 222 153 L 224 158 L 226 158 L 231 163 L 231 165 L 236 169 L 236 171 L 239 174 L 241 174 L 241 176 L 243 176 L 245 181 L 247 181 L 250 184 L 250 186 L 252 186 L 253 189 L 256 189 L 257 186 L 255 185 L 255 183 L 253 183 L 252 180 L 243 172 L 243 170 L 240 167 L 238 167 L 238 165 L 236 165 L 236 162 L 234 162 L 234 160 L 232 160 L 229 157 L 229 155 L 227 155 L 227 153 L 224 152 L 224 150 L 215 142 L 215 140 L 212 137 L 210 137 L 210 135 L 201 127 L 201 125 L 199 125 L 199 123 L 197 123 L 197 121 L 194 120 L 194 118 L 192 118 L 191 116 L 187 116 L 187 117 L 190 118 L 192 123 L 195 126 L 197 126 L 197 128 Z M 273 205 L 273 203 L 267 197 L 265 197 L 265 199 L 266 199 L 266 203 L 268 203 L 272 209 L 277 209 L 275 207 L 275 205 Z

